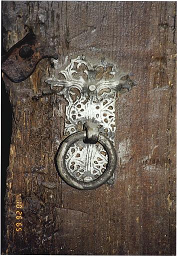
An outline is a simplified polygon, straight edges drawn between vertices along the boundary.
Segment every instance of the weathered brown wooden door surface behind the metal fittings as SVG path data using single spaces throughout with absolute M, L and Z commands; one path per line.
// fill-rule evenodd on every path
M 32 99 L 57 70 L 43 59 L 21 83 L 4 77 L 14 118 L 3 253 L 176 254 L 175 14 L 175 2 L 2 1 L 6 49 L 32 29 L 56 49 L 59 66 L 80 54 L 105 56 L 138 82 L 117 100 L 115 184 L 80 191 L 54 164 L 66 101 Z

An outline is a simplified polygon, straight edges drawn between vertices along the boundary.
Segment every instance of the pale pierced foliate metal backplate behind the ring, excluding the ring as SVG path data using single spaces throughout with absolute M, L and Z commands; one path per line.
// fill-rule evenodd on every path
M 64 135 L 83 130 L 83 124 L 91 121 L 114 143 L 115 102 L 117 91 L 130 90 L 136 85 L 126 73 L 106 60 L 93 63 L 85 56 L 71 59 L 64 70 L 46 80 L 51 89 L 58 86 L 58 95 L 68 101 Z M 99 143 L 87 144 L 78 141 L 66 154 L 66 166 L 77 180 L 89 182 L 105 171 L 108 156 Z M 108 183 L 113 183 L 114 176 Z

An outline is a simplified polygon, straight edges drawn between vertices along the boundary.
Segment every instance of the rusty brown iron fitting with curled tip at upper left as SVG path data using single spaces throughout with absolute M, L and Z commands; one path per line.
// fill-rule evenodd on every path
M 1 70 L 12 82 L 21 82 L 32 74 L 41 59 L 47 57 L 57 59 L 58 54 L 30 32 L 1 57 Z

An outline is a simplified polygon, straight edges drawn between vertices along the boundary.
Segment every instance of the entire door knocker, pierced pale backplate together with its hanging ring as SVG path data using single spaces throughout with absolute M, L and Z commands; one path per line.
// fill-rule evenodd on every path
M 83 55 L 71 59 L 58 78 L 52 75 L 46 82 L 68 101 L 64 129 L 67 137 L 57 154 L 61 177 L 78 189 L 113 184 L 116 96 L 136 83 L 105 59 L 97 64 Z

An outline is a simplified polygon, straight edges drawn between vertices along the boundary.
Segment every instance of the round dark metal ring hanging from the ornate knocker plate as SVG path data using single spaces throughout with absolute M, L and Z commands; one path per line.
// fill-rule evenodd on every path
M 114 145 L 108 137 L 106 137 L 102 133 L 99 133 L 98 142 L 103 145 L 108 154 L 108 164 L 106 170 L 97 179 L 89 182 L 79 181 L 76 178 L 74 178 L 66 168 L 66 153 L 70 146 L 72 146 L 76 141 L 80 139 L 85 139 L 85 137 L 86 131 L 78 131 L 74 134 L 71 134 L 65 140 L 63 140 L 57 155 L 58 169 L 64 181 L 75 188 L 84 190 L 94 189 L 103 185 L 113 175 L 116 167 L 116 151 Z

